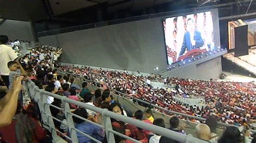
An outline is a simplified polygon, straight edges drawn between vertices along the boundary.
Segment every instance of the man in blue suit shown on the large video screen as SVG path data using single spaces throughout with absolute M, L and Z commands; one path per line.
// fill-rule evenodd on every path
M 183 44 L 180 49 L 179 56 L 183 55 L 185 51 L 191 51 L 192 49 L 196 49 L 202 47 L 204 45 L 204 41 L 201 38 L 201 33 L 195 30 L 194 21 L 191 18 L 187 19 L 187 32 L 184 34 Z

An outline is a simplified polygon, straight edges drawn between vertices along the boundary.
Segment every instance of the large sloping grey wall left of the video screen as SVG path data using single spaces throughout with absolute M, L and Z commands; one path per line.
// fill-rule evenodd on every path
M 212 12 L 215 45 L 219 47 L 218 10 Z M 62 47 L 62 62 L 154 73 L 154 68 L 160 71 L 168 66 L 163 30 L 167 17 L 174 16 L 50 35 L 39 41 Z

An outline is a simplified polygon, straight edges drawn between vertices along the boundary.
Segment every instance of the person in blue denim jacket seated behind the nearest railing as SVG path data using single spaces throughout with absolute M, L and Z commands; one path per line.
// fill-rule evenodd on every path
M 84 108 L 78 108 L 73 113 L 80 117 L 83 117 L 85 119 L 87 119 L 87 117 L 88 117 L 87 112 Z M 75 116 L 73 116 L 73 121 L 75 124 L 75 128 L 82 131 L 83 133 L 86 133 L 87 135 L 90 135 L 91 137 L 93 137 L 99 141 L 103 141 L 104 133 L 102 132 L 102 128 L 100 128 L 94 124 L 91 124 L 87 121 L 84 121 L 82 119 L 79 119 Z M 88 138 L 85 135 L 80 134 L 78 132 L 77 132 L 77 138 L 78 138 L 78 142 L 94 142 L 90 138 Z

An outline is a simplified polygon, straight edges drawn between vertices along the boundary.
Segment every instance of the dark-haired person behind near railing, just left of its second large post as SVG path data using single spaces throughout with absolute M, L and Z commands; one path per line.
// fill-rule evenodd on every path
M 54 98 L 54 101 L 51 103 L 51 105 L 57 106 L 58 108 L 62 108 L 62 102 L 57 98 Z M 66 122 L 66 118 L 65 118 L 65 115 L 63 114 L 63 112 L 60 111 L 59 109 L 54 108 L 53 106 L 50 106 L 50 111 L 51 111 L 51 115 L 53 117 L 55 117 L 63 122 L 63 123 L 60 123 L 59 121 L 53 119 L 53 123 L 54 123 L 55 127 L 62 133 L 65 133 L 66 131 L 68 131 L 68 126 L 65 125 L 65 124 L 67 124 L 67 122 Z

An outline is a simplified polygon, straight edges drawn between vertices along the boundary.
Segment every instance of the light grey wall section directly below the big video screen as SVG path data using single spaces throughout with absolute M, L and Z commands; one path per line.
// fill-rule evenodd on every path
M 166 73 L 164 77 L 183 77 L 201 80 L 218 79 L 222 73 L 221 56 L 205 61 L 205 62 L 192 62 L 187 66 L 176 68 Z

